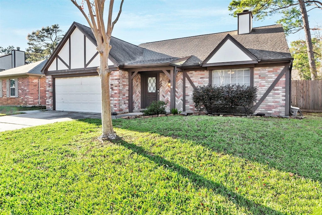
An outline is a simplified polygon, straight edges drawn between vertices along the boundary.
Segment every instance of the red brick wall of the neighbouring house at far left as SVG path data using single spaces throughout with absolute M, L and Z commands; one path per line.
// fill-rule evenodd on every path
M 0 105 L 45 105 L 45 78 L 40 79 L 40 103 L 38 78 L 24 77 L 18 78 L 18 97 L 7 97 L 7 79 L 2 79 L 2 98 Z

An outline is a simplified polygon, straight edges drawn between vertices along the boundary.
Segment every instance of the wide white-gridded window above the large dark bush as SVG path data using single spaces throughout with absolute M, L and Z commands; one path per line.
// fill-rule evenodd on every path
M 251 70 L 247 69 L 223 69 L 213 70 L 213 86 L 222 84 L 251 84 Z

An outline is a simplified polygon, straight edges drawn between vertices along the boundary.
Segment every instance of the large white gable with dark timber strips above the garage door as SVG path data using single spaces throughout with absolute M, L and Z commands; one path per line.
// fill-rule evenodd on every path
M 108 65 L 114 67 L 114 61 L 109 59 Z M 44 70 L 83 70 L 98 66 L 99 53 L 96 44 L 73 24 L 49 58 Z

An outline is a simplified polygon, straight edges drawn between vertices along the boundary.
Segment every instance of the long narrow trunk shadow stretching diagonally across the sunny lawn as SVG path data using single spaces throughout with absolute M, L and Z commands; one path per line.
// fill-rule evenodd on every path
M 208 180 L 203 176 L 186 169 L 185 167 L 182 167 L 174 162 L 171 162 L 162 158 L 161 156 L 151 154 L 150 152 L 146 151 L 144 148 L 137 146 L 133 143 L 126 142 L 119 136 L 117 140 L 114 140 L 112 142 L 117 145 L 122 145 L 130 149 L 133 152 L 137 153 L 138 155 L 148 158 L 149 160 L 155 162 L 160 167 L 164 167 L 171 172 L 178 173 L 183 177 L 188 178 L 195 185 L 196 190 L 199 190 L 202 188 L 213 190 L 215 193 L 220 194 L 226 199 L 228 199 L 229 201 L 233 202 L 237 208 L 245 207 L 249 212 L 253 214 L 280 214 L 280 215 L 283 214 L 280 211 L 274 210 L 270 207 L 266 207 L 259 203 L 255 203 L 249 199 L 246 199 L 240 194 L 227 189 L 222 184 Z

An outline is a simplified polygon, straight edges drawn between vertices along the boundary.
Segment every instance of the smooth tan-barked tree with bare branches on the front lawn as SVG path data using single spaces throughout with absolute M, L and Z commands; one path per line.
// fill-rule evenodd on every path
M 104 4 L 105 0 L 82 0 L 81 4 L 78 4 L 76 0 L 71 0 L 71 2 L 81 11 L 90 25 L 96 43 L 97 51 L 99 52 L 100 64 L 97 67 L 97 72 L 99 73 L 99 78 L 101 82 L 101 100 L 102 100 L 102 134 L 99 136 L 99 140 L 104 141 L 106 139 L 115 139 L 116 134 L 113 131 L 112 117 L 111 117 L 111 104 L 110 104 L 110 84 L 109 77 L 111 70 L 108 66 L 109 51 L 112 46 L 109 44 L 111 40 L 111 34 L 113 31 L 114 24 L 118 21 L 118 18 L 122 11 L 123 0 L 120 4 L 120 9 L 115 20 L 112 22 L 112 12 L 114 0 L 109 1 L 109 12 L 107 26 L 105 28 L 104 24 Z M 89 17 L 87 17 L 84 12 L 84 2 L 86 2 L 87 9 L 89 12 Z

